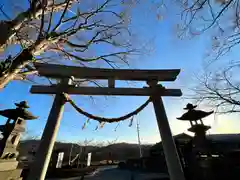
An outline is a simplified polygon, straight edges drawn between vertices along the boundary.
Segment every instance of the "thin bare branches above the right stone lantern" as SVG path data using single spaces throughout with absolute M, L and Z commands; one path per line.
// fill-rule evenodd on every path
M 238 113 L 240 111 L 240 81 L 234 79 L 238 66 L 224 68 L 220 72 L 200 78 L 200 84 L 193 89 L 198 103 L 205 103 L 216 109 L 217 113 Z M 229 74 L 233 73 L 232 76 Z

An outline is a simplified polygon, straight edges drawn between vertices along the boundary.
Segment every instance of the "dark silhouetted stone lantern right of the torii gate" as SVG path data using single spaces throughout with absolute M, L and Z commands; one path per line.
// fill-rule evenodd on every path
M 211 177 L 211 168 L 206 168 L 211 166 L 211 161 L 208 159 L 210 151 L 208 141 L 206 139 L 206 132 L 211 127 L 204 125 L 202 119 L 211 115 L 213 111 L 206 112 L 196 110 L 196 107 L 197 106 L 192 104 L 187 104 L 187 106 L 184 108 L 187 110 L 187 112 L 181 117 L 177 118 L 182 121 L 189 121 L 191 127 L 188 129 L 188 131 L 194 133 L 194 138 L 191 142 L 191 148 L 188 149 L 186 154 L 186 159 L 188 161 L 186 174 L 191 177 L 190 179 L 210 179 L 209 177 Z

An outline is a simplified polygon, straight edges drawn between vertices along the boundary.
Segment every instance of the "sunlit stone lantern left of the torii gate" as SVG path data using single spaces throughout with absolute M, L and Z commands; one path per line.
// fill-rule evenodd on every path
M 15 109 L 1 110 L 0 115 L 7 119 L 5 125 L 0 125 L 3 138 L 0 140 L 0 178 L 20 179 L 21 169 L 17 169 L 17 146 L 21 133 L 25 131 L 26 120 L 37 119 L 26 109 L 26 101 L 15 103 Z

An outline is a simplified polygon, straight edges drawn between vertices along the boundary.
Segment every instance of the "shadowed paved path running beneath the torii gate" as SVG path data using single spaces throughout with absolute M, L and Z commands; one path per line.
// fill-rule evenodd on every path
M 164 174 L 143 174 L 134 173 L 134 180 L 151 180 L 153 178 L 164 178 Z M 80 177 L 68 179 L 48 179 L 48 180 L 81 180 Z M 115 167 L 100 168 L 91 175 L 88 175 L 84 180 L 132 180 L 131 172 L 128 170 L 120 170 Z

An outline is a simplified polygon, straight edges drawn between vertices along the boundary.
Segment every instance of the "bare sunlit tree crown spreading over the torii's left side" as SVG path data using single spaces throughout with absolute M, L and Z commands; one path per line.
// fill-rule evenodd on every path
M 0 88 L 13 79 L 28 79 L 35 73 L 34 61 L 61 64 L 68 61 L 89 66 L 101 60 L 111 68 L 117 68 L 118 63 L 128 65 L 128 58 L 137 55 L 137 48 L 130 40 L 124 14 L 119 11 L 120 2 L 93 1 L 92 7 L 85 7 L 84 2 L 87 1 L 65 0 L 57 4 L 54 0 L 33 0 L 26 11 L 1 22 L 0 28 L 7 27 L 7 31 L 0 35 L 4 36 L 0 46 L 21 42 L 22 49 L 12 58 L 11 66 L 1 70 Z M 111 50 L 93 53 L 98 47 Z

